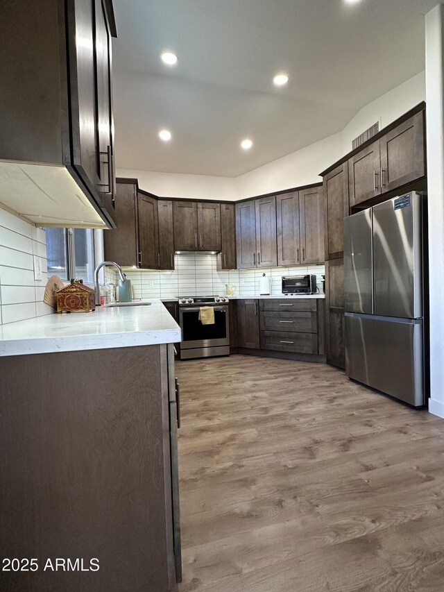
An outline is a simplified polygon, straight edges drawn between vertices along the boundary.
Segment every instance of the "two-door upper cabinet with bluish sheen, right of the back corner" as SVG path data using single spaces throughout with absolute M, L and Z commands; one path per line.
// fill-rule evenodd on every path
M 273 267 L 278 264 L 276 198 L 236 204 L 237 267 Z

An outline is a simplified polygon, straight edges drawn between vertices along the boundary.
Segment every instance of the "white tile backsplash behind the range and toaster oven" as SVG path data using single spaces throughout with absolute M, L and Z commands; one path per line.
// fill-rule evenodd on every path
M 282 276 L 316 274 L 322 291 L 324 265 L 271 267 L 268 269 L 217 270 L 217 257 L 209 253 L 181 253 L 175 255 L 174 271 L 148 271 L 127 268 L 135 298 L 177 298 L 178 296 L 219 296 L 226 294 L 225 284 L 235 287 L 237 296 L 258 296 L 262 273 L 271 276 L 271 294 L 282 294 Z

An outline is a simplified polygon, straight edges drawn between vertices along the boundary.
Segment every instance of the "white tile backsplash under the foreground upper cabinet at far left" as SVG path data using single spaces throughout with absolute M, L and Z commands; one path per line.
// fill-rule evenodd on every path
M 40 281 L 34 279 L 35 255 L 42 263 Z M 47 269 L 44 230 L 0 209 L 0 324 L 53 312 L 43 302 Z

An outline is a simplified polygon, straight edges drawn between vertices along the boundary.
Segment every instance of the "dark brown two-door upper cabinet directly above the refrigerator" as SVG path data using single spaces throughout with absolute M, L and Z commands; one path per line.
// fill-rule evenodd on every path
M 348 160 L 350 206 L 425 176 L 424 112 L 420 111 Z

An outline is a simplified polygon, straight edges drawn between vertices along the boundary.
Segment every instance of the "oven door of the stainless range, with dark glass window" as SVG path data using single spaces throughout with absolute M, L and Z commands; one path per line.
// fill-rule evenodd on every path
M 214 325 L 203 325 L 199 321 L 200 307 L 180 307 L 179 323 L 182 329 L 181 348 L 189 349 L 230 345 L 228 306 L 214 306 L 213 309 Z

